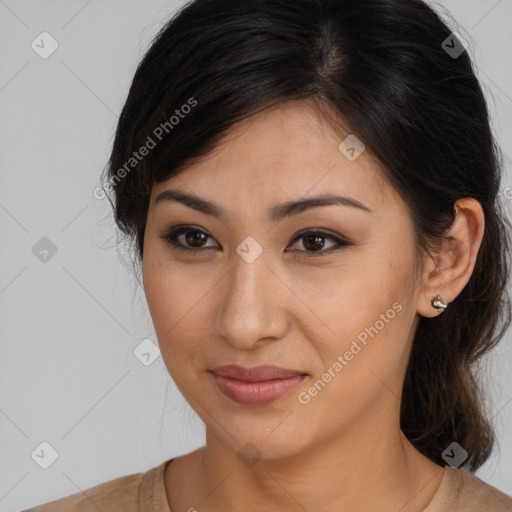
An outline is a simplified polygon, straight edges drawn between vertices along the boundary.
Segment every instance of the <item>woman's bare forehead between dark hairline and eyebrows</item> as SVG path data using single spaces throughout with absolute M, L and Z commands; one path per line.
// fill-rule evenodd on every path
M 349 129 L 333 128 L 331 119 L 308 102 L 283 103 L 244 119 L 210 154 L 191 159 L 184 172 L 156 183 L 152 200 L 168 187 L 204 197 L 214 193 L 218 202 L 231 205 L 247 198 L 274 203 L 332 192 L 371 208 L 396 199 L 368 151 L 357 156 L 362 146 L 355 147 L 355 159 L 354 152 L 347 153 L 347 137 L 353 145 Z

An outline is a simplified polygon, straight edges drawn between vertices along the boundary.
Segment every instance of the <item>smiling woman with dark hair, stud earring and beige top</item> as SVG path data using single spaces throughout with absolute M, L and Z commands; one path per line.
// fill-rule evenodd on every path
M 421 0 L 195 0 L 105 178 L 206 444 L 33 510 L 510 511 L 473 472 L 510 324 L 499 149 Z

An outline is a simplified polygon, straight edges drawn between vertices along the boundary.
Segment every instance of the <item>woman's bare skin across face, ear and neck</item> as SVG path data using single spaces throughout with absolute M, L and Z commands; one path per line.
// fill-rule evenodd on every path
M 431 298 L 453 301 L 471 276 L 483 212 L 477 201 L 460 200 L 446 243 L 415 267 L 410 213 L 368 151 L 349 161 L 338 150 L 348 133 L 307 102 L 283 103 L 153 186 L 144 289 L 167 369 L 206 425 L 205 446 L 167 466 L 173 512 L 420 511 L 440 485 L 443 468 L 400 430 L 401 387 L 420 315 L 439 315 Z M 214 202 L 226 215 L 154 203 L 167 189 Z M 332 205 L 267 218 L 273 205 L 332 192 L 371 212 Z M 182 244 L 209 249 L 181 252 L 161 238 L 178 224 L 208 235 L 195 244 L 182 235 Z M 315 256 L 335 243 L 321 239 L 314 251 L 311 241 L 295 240 L 306 228 L 353 245 Z M 263 249 L 252 263 L 236 252 L 248 236 Z M 400 312 L 300 403 L 298 394 L 394 303 Z M 224 364 L 273 364 L 308 376 L 270 404 L 245 406 L 221 393 L 208 371 Z M 237 457 L 249 442 L 258 450 L 250 467 Z

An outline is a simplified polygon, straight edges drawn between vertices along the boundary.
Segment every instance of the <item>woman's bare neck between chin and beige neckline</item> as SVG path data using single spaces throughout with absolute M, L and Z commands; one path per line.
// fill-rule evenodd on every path
M 397 428 L 347 431 L 300 453 L 244 464 L 207 429 L 197 450 L 198 503 L 217 510 L 423 510 L 443 468 L 419 453 Z M 376 428 L 376 425 L 378 426 Z M 202 501 L 201 501 L 202 500 Z M 199 505 L 200 506 L 200 505 Z

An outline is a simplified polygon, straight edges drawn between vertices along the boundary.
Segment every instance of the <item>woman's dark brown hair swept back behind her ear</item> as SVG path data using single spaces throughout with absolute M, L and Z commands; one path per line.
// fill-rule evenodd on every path
M 238 121 L 312 100 L 339 113 L 382 165 L 410 209 L 419 252 L 442 240 L 458 199 L 477 199 L 485 233 L 476 266 L 442 315 L 421 317 L 401 404 L 418 450 L 445 465 L 456 441 L 475 470 L 493 433 L 474 367 L 511 321 L 510 224 L 484 95 L 467 52 L 448 51 L 453 37 L 421 0 L 192 1 L 137 68 L 103 183 L 140 270 L 153 183 L 184 172 Z

